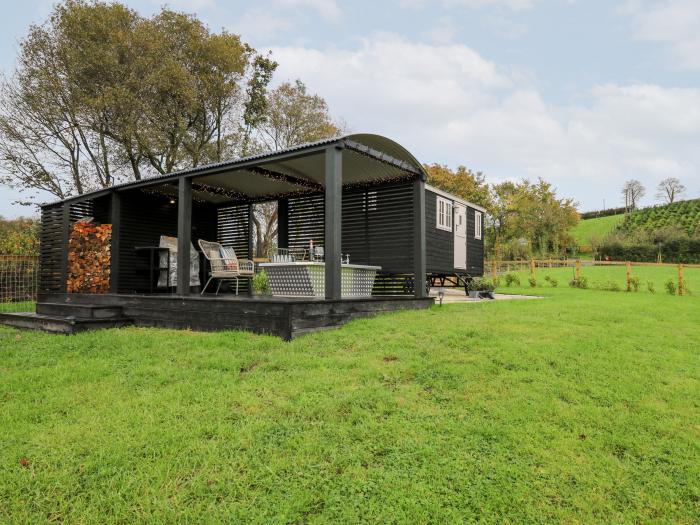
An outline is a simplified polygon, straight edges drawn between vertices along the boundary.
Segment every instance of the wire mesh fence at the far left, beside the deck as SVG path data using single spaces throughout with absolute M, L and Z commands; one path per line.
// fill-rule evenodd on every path
M 0 312 L 33 311 L 38 284 L 38 256 L 0 255 Z

